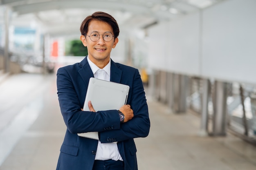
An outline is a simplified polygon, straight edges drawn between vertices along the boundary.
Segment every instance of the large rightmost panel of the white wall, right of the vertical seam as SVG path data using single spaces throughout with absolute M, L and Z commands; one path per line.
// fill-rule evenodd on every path
M 256 0 L 203 11 L 202 75 L 256 83 Z

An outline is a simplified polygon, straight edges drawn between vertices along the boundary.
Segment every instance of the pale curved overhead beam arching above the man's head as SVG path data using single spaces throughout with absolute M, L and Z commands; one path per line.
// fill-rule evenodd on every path
M 6 0 L 5 0 L 6 1 Z M 23 0 L 12 0 L 12 2 L 25 2 Z M 154 16 L 160 20 L 170 19 L 172 14 L 168 11 L 151 11 L 150 7 L 146 7 L 142 4 L 130 4 L 123 1 L 100 1 L 100 0 L 55 0 L 55 1 L 29 1 L 30 3 L 20 3 L 13 5 L 12 10 L 19 15 L 27 13 L 36 13 L 39 11 L 69 9 L 69 8 L 84 8 L 86 9 L 102 9 L 102 10 L 114 10 L 114 11 L 126 11 L 135 15 L 146 14 Z M 34 2 L 34 3 L 33 3 Z M 2 4 L 7 2 L 2 2 Z M 161 17 L 159 17 L 161 16 Z

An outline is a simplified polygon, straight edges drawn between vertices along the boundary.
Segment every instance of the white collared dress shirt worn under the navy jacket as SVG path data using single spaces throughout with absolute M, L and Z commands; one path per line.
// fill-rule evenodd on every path
M 110 81 L 110 62 L 108 62 L 108 64 L 103 69 L 101 69 L 98 66 L 96 66 L 92 61 L 90 61 L 89 57 L 87 57 L 87 60 L 95 78 Z M 113 159 L 115 161 L 117 160 L 123 161 L 119 153 L 119 150 L 117 148 L 117 143 L 101 144 L 101 142 L 99 141 L 95 160 L 108 160 L 108 159 Z

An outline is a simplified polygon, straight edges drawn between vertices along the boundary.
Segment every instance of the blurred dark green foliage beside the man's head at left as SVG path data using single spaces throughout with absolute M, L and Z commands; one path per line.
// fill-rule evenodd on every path
M 66 42 L 66 55 L 86 56 L 88 55 L 87 47 L 83 46 L 80 40 L 71 40 Z

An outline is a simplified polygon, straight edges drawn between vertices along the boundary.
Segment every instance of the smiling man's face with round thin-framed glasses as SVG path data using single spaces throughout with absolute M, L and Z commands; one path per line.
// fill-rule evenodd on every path
M 96 42 L 93 42 L 92 40 L 90 40 L 90 37 L 87 36 L 94 31 L 100 34 L 100 38 Z M 106 33 L 106 32 L 110 32 L 114 35 L 112 27 L 108 23 L 98 21 L 98 20 L 92 20 L 89 23 L 87 35 L 85 36 L 81 35 L 80 37 L 80 40 L 83 42 L 83 45 L 87 46 L 88 57 L 96 65 L 97 63 L 105 63 L 105 62 L 106 64 L 108 64 L 110 60 L 110 52 L 112 48 L 115 48 L 118 42 L 118 38 L 116 38 L 115 40 L 113 38 L 109 42 L 106 42 L 105 40 L 103 40 L 102 35 L 103 33 Z

